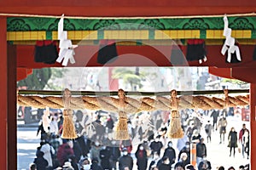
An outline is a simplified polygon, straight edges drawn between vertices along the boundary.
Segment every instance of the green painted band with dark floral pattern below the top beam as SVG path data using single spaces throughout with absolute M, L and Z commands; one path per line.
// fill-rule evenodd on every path
M 8 31 L 57 31 L 59 19 L 37 17 L 9 17 Z M 256 29 L 256 17 L 230 17 L 230 28 L 236 30 Z M 223 30 L 223 17 L 193 19 L 116 19 L 85 20 L 65 19 L 67 31 L 88 30 Z

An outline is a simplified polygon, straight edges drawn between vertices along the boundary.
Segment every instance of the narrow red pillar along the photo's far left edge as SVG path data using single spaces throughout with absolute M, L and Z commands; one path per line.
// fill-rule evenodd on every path
M 6 17 L 0 17 L 0 169 L 8 169 L 7 164 L 7 114 L 8 114 L 8 57 L 6 37 Z M 15 163 L 15 162 L 13 162 Z

